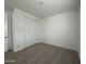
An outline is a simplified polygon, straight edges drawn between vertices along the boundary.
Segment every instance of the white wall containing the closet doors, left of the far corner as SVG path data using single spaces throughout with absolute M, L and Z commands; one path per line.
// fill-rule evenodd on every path
M 20 51 L 38 41 L 39 18 L 14 9 L 12 15 L 13 51 Z

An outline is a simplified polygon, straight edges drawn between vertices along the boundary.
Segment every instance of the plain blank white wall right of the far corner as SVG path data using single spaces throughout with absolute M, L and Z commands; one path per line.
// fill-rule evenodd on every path
M 78 11 L 53 15 L 44 20 L 44 38 L 46 43 L 77 50 Z

